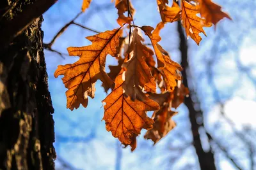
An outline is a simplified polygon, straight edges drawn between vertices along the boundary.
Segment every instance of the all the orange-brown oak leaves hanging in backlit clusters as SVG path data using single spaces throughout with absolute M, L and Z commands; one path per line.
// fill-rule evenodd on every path
M 58 66 L 54 73 L 55 77 L 63 75 L 70 110 L 79 108 L 80 104 L 86 108 L 88 96 L 94 97 L 97 80 L 102 81 L 106 92 L 111 89 L 102 101 L 106 129 L 125 146 L 131 145 L 132 150 L 136 148 L 136 137 L 141 129 L 148 130 L 145 138 L 154 143 L 166 136 L 176 125 L 172 117 L 177 112 L 172 108 L 179 107 L 189 94 L 182 84 L 182 67 L 159 45 L 159 32 L 164 24 L 180 21 L 187 36 L 199 45 L 202 39 L 199 33 L 205 34 L 203 27 L 216 25 L 223 17 L 231 19 L 211 0 L 181 0 L 180 5 L 173 1 L 172 6 L 168 0 L 156 1 L 161 22 L 154 29 L 134 24 L 135 9 L 131 2 L 116 0 L 116 22 L 120 27 L 88 36 L 92 45 L 68 47 L 69 55 L 80 59 Z M 84 0 L 82 10 L 90 3 Z M 123 33 L 125 29 L 129 34 Z M 141 32 L 150 39 L 152 48 L 145 45 Z M 117 66 L 109 66 L 109 73 L 105 71 L 107 55 L 118 60 Z M 154 111 L 152 118 L 147 116 L 147 111 Z

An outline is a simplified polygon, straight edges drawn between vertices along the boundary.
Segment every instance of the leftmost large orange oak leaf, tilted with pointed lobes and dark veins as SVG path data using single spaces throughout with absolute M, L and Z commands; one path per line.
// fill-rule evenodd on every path
M 58 66 L 54 73 L 55 78 L 64 75 L 62 81 L 68 89 L 67 108 L 74 110 L 79 108 L 80 104 L 86 108 L 88 96 L 94 97 L 94 84 L 97 80 L 109 87 L 113 85 L 113 80 L 105 72 L 106 55 L 117 55 L 116 46 L 121 34 L 120 29 L 102 32 L 87 37 L 92 41 L 92 45 L 67 48 L 69 55 L 80 57 L 74 64 Z

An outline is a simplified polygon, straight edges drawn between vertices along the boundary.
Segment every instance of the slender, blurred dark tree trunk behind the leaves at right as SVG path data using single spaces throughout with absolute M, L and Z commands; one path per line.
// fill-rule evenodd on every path
M 180 37 L 180 53 L 181 53 L 181 66 L 184 69 L 182 76 L 183 76 L 183 83 L 186 87 L 188 86 L 188 73 L 189 73 L 189 67 L 188 67 L 188 45 L 187 41 L 184 35 L 184 32 L 182 31 L 181 24 L 178 24 L 178 32 Z M 193 92 L 193 89 L 189 89 L 190 92 Z M 198 161 L 200 164 L 200 168 L 202 170 L 216 170 L 216 166 L 214 164 L 214 155 L 209 150 L 208 152 L 204 151 L 202 148 L 202 143 L 200 140 L 200 134 L 199 134 L 199 128 L 200 126 L 203 126 L 198 124 L 196 122 L 196 118 L 198 115 L 200 115 L 200 111 L 196 111 L 193 100 L 191 98 L 191 95 L 189 97 L 186 97 L 184 99 L 184 104 L 186 104 L 188 110 L 189 110 L 189 120 L 191 122 L 191 131 L 193 134 L 193 145 L 196 150 L 196 155 L 198 157 Z M 210 140 L 210 139 L 209 139 Z

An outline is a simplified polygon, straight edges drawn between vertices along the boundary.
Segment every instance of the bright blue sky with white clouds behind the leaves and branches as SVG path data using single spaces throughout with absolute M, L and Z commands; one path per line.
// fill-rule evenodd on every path
M 216 96 L 212 93 L 209 81 L 209 72 L 214 75 L 212 80 L 216 84 L 216 89 L 220 92 L 221 102 L 224 103 L 224 110 L 228 117 L 235 122 L 237 129 L 243 129 L 244 125 L 256 127 L 252 120 L 255 120 L 256 109 L 256 87 L 252 79 L 256 79 L 256 69 L 250 70 L 250 75 L 237 70 L 237 56 L 244 67 L 256 66 L 256 37 L 255 19 L 250 17 L 256 15 L 256 11 L 250 6 L 243 6 L 241 1 L 214 1 L 221 4 L 224 10 L 230 13 L 233 21 L 222 20 L 214 28 L 205 28 L 207 38 L 200 46 L 188 40 L 189 60 L 191 61 L 191 77 L 193 85 L 196 87 L 200 97 L 202 109 L 205 113 L 207 130 L 214 132 L 216 124 L 223 122 L 220 119 L 220 104 L 216 104 Z M 255 3 L 251 2 L 254 6 Z M 161 21 L 157 12 L 156 1 L 132 1 L 137 9 L 134 17 L 136 25 L 150 25 L 155 27 Z M 67 24 L 81 10 L 81 0 L 63 0 L 56 3 L 44 14 L 44 42 L 51 41 L 53 36 L 63 25 Z M 108 5 L 107 5 L 108 4 Z M 106 6 L 101 10 L 97 6 Z M 241 8 L 241 13 L 237 11 Z M 77 22 L 97 31 L 112 30 L 118 27 L 115 22 L 117 18 L 114 3 L 110 0 L 93 0 L 92 6 L 77 18 Z M 180 62 L 179 38 L 177 36 L 176 24 L 166 24 L 161 32 L 161 45 L 170 52 L 172 59 Z M 244 34 L 246 32 L 246 34 Z M 85 39 L 95 33 L 81 29 L 76 25 L 70 25 L 68 29 L 56 40 L 52 48 L 63 53 L 67 53 L 68 46 L 86 46 L 90 42 Z M 232 41 L 231 41 L 231 40 Z M 232 43 L 230 43 L 232 42 Z M 220 48 L 218 45 L 221 45 Z M 236 48 L 236 45 L 239 48 Z M 253 55 L 254 54 L 254 55 Z M 105 129 L 103 117 L 103 107 L 101 101 L 106 97 L 104 89 L 97 81 L 95 98 L 89 99 L 87 108 L 82 106 L 74 111 L 67 110 L 65 89 L 61 78 L 54 78 L 53 73 L 60 64 L 75 62 L 78 57 L 68 57 L 62 59 L 56 53 L 45 50 L 47 62 L 47 73 L 49 75 L 49 90 L 52 96 L 52 103 L 55 109 L 54 121 L 56 132 L 56 152 L 61 159 L 67 161 L 77 169 L 198 169 L 195 159 L 195 150 L 191 144 L 191 133 L 188 119 L 188 110 L 183 105 L 178 108 L 179 115 L 175 116 L 177 127 L 172 132 L 152 146 L 152 141 L 143 139 L 143 134 L 138 139 L 138 147 L 131 153 L 130 148 L 121 148 L 117 139 L 113 138 L 111 132 Z M 214 60 L 214 64 L 205 64 Z M 107 64 L 116 64 L 115 59 L 107 57 Z M 211 68 L 211 69 L 210 69 Z M 108 72 L 108 67 L 106 67 Z M 251 78 L 251 79 L 250 79 Z M 227 104 L 225 104 L 227 103 Z M 242 112 L 242 113 L 241 113 Z M 150 114 L 149 114 L 150 115 Z M 206 124 L 205 123 L 205 124 Z M 220 132 L 228 136 L 227 125 L 221 127 Z M 219 134 L 216 134 L 220 138 Z M 204 141 L 204 139 L 202 139 Z M 229 141 L 227 141 L 228 143 Z M 187 146 L 188 145 L 188 146 Z M 187 146 L 184 150 L 177 150 Z M 204 146 L 205 149 L 209 147 Z M 176 148 L 176 149 L 175 149 Z M 217 152 L 217 151 L 216 151 Z M 177 159 L 179 155 L 181 158 Z M 216 154 L 220 169 L 233 169 L 230 162 L 225 160 L 221 152 Z M 244 167 L 248 167 L 248 162 L 241 162 Z M 56 162 L 58 167 L 60 164 Z M 187 166 L 188 165 L 188 166 Z M 247 169 L 247 168 L 245 168 Z

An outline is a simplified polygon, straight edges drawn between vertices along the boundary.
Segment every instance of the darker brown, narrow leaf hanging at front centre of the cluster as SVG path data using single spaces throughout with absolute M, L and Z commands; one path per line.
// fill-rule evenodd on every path
M 131 45 L 127 51 L 129 59 L 123 64 L 123 67 L 125 67 L 123 88 L 125 94 L 130 96 L 132 101 L 135 99 L 141 101 L 143 99 L 142 89 L 146 92 L 156 92 L 156 82 L 145 62 L 151 51 L 141 41 L 143 39 L 138 34 L 138 29 L 135 28 L 132 32 Z

